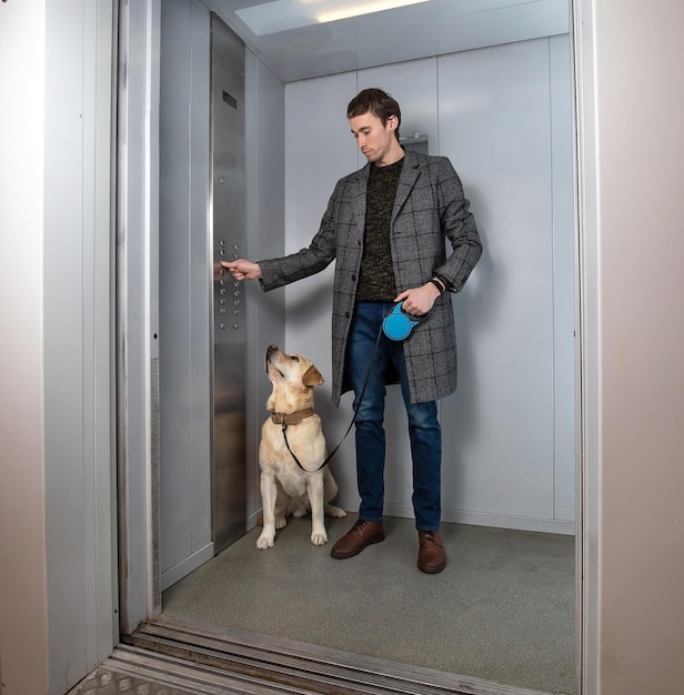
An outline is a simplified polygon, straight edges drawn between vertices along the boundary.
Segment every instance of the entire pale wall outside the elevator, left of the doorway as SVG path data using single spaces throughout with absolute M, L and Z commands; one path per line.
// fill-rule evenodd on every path
M 64 693 L 117 641 L 113 19 L 111 0 L 0 7 L 7 695 Z

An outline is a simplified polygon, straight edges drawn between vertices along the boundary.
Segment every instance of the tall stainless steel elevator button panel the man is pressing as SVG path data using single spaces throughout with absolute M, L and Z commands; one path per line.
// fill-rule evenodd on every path
M 247 332 L 240 283 L 220 266 L 245 245 L 244 46 L 215 16 L 211 22 L 213 254 L 214 553 L 247 531 Z

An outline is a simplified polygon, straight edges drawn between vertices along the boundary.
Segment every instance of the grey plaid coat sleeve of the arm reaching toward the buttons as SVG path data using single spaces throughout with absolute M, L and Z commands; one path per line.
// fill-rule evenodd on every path
M 302 280 L 302 278 L 320 273 L 332 263 L 336 254 L 335 215 L 342 190 L 343 182 L 339 181 L 330 198 L 319 231 L 308 248 L 280 259 L 259 261 L 261 268 L 260 283 L 264 291 L 282 288 L 291 282 Z

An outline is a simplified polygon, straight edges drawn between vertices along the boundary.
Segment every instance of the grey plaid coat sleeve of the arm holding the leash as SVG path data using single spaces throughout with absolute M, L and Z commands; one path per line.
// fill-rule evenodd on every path
M 459 174 L 446 158 L 440 159 L 435 170 L 440 224 L 452 253 L 434 273 L 447 281 L 452 292 L 460 292 L 480 260 L 482 242 Z

